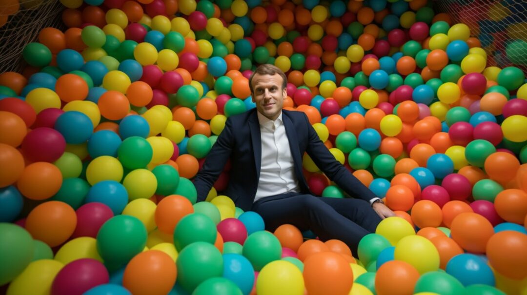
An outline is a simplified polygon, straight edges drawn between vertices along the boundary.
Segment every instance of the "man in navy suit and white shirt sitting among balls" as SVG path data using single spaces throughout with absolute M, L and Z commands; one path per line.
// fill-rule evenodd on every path
M 360 239 L 375 232 L 381 218 L 395 214 L 335 160 L 304 113 L 282 110 L 286 85 L 286 75 L 274 65 L 260 65 L 251 75 L 256 110 L 227 119 L 194 180 L 198 201 L 206 199 L 230 159 L 224 193 L 237 207 L 259 213 L 267 230 L 293 224 L 310 229 L 323 241 L 339 239 L 357 254 Z M 329 179 L 358 199 L 314 196 L 302 175 L 304 152 Z

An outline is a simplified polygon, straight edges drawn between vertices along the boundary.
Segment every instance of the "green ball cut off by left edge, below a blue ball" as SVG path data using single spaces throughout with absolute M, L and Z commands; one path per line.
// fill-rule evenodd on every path
M 13 223 L 0 223 L 0 286 L 11 282 L 33 259 L 31 234 Z

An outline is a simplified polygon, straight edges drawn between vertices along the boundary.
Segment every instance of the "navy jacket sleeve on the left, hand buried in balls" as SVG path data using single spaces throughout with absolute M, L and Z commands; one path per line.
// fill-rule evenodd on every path
M 216 182 L 230 158 L 234 141 L 232 120 L 227 118 L 223 131 L 221 131 L 216 143 L 212 146 L 201 170 L 196 175 L 196 178 L 194 178 L 194 186 L 198 193 L 197 202 L 207 199 L 212 185 Z

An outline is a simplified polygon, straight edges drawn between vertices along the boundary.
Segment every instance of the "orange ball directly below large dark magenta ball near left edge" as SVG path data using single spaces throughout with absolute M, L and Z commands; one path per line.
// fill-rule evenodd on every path
M 35 162 L 25 167 L 18 178 L 21 194 L 31 200 L 51 198 L 62 186 L 62 173 L 57 166 L 47 162 Z

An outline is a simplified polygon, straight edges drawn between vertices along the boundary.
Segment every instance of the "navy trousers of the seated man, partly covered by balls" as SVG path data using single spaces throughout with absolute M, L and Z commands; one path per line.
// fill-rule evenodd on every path
M 375 232 L 381 220 L 364 200 L 301 193 L 259 199 L 252 205 L 252 211 L 261 215 L 268 231 L 275 231 L 281 224 L 292 224 L 301 231 L 313 231 L 321 241 L 343 241 L 355 257 L 360 239 Z

